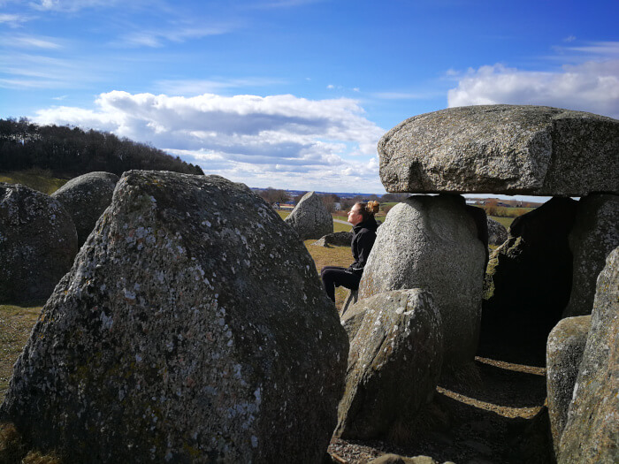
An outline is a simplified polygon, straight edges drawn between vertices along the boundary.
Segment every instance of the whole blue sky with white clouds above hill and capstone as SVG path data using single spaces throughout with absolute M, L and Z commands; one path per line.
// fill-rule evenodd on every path
M 377 143 L 471 104 L 619 118 L 619 1 L 0 0 L 0 118 L 248 186 L 385 193 Z

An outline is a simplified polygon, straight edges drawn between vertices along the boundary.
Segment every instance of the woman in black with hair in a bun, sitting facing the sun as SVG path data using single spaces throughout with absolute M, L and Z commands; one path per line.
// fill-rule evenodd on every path
M 320 271 L 320 278 L 323 280 L 325 292 L 335 301 L 335 287 L 344 286 L 351 290 L 359 288 L 359 282 L 363 274 L 365 263 L 371 247 L 376 240 L 376 230 L 378 224 L 374 219 L 374 214 L 378 212 L 378 202 L 355 203 L 348 211 L 348 222 L 353 224 L 353 240 L 350 248 L 353 252 L 353 262 L 348 269 L 337 266 L 325 266 Z

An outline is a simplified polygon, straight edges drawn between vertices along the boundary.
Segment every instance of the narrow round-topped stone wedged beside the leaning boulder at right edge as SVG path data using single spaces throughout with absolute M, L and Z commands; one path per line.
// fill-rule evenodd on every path
M 559 453 L 563 427 L 568 419 L 569 402 L 590 326 L 591 316 L 567 317 L 559 321 L 548 335 L 546 392 L 555 454 Z

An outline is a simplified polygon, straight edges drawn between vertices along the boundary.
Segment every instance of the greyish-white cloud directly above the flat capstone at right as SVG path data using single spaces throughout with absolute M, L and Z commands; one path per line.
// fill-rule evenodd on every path
M 596 49 L 615 49 L 613 43 Z M 592 51 L 590 49 L 589 51 Z M 504 65 L 482 66 L 461 76 L 447 94 L 449 107 L 475 104 L 536 104 L 619 118 L 619 59 L 564 65 L 560 72 L 531 72 Z

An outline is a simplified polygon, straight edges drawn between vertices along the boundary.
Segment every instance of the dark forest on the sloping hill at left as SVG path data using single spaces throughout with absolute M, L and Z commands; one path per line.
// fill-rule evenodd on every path
M 132 169 L 204 174 L 200 166 L 143 143 L 79 127 L 38 126 L 27 118 L 0 119 L 0 171 L 39 168 L 57 176 Z

